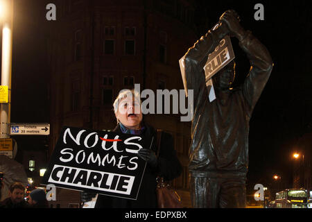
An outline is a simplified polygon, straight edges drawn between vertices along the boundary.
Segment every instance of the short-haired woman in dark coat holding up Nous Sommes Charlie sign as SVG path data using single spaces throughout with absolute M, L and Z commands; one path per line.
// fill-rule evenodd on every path
M 116 133 L 140 135 L 144 138 L 144 148 L 138 152 L 138 156 L 147 162 L 144 176 L 139 189 L 137 200 L 116 198 L 112 196 L 98 195 L 95 208 L 102 207 L 130 207 L 130 208 L 156 208 L 156 178 L 164 177 L 165 180 L 173 180 L 180 176 L 182 167 L 177 159 L 173 146 L 173 137 L 168 133 L 162 133 L 159 157 L 157 153 L 157 133 L 152 126 L 144 123 L 141 113 L 141 99 L 134 89 L 123 90 L 114 101 L 114 113 L 117 126 Z M 82 192 L 81 200 L 87 202 L 96 194 Z

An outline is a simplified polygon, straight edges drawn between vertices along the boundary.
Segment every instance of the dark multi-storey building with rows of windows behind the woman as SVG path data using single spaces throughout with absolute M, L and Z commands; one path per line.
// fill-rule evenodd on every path
M 198 39 L 191 1 L 55 2 L 57 20 L 49 26 L 48 40 L 50 155 L 63 126 L 112 130 L 116 126 L 112 103 L 121 89 L 132 89 L 136 83 L 155 94 L 157 89 L 184 89 L 178 60 Z M 144 118 L 173 136 L 183 167 L 173 187 L 184 206 L 191 207 L 187 169 L 191 123 L 180 121 L 179 114 Z M 56 202 L 69 207 L 68 201 Z

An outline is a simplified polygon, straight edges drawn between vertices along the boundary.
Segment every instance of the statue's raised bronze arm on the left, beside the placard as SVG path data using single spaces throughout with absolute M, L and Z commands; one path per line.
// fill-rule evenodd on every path
M 222 22 L 218 28 L 209 30 L 206 35 L 200 37 L 191 47 L 184 58 L 187 89 L 193 89 L 194 100 L 198 99 L 200 85 L 205 85 L 205 73 L 203 68 L 207 62 L 209 53 L 214 51 L 220 40 L 229 33 L 227 26 Z

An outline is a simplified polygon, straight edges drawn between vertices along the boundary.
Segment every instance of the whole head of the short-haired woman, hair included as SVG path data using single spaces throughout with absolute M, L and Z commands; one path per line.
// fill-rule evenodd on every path
M 123 89 L 114 101 L 114 113 L 117 123 L 125 130 L 140 130 L 143 115 L 141 99 L 135 89 Z

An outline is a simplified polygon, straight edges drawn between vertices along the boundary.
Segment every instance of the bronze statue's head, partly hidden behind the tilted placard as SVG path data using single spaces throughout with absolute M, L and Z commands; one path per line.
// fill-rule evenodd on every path
M 227 90 L 232 87 L 235 78 L 235 65 L 234 60 L 232 60 L 232 62 L 229 62 L 229 64 L 212 77 L 216 89 Z

